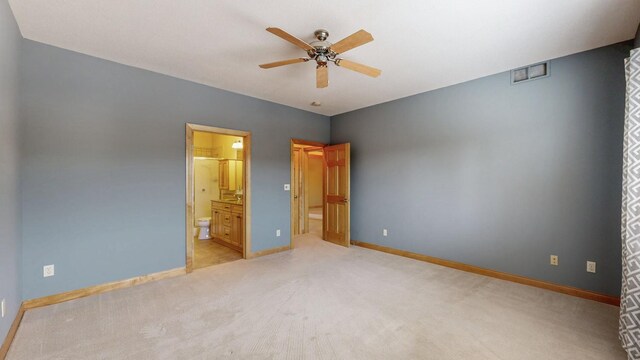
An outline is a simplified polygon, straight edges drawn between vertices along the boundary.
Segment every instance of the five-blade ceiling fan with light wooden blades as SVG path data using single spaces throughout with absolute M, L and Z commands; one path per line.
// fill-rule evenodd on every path
M 335 44 L 327 41 L 329 32 L 324 29 L 319 29 L 314 32 L 317 41 L 313 41 L 310 44 L 279 28 L 270 27 L 267 28 L 267 31 L 306 51 L 307 57 L 262 64 L 260 67 L 263 69 L 314 60 L 316 62 L 316 87 L 318 88 L 329 86 L 329 71 L 327 65 L 330 62 L 371 77 L 378 77 L 382 73 L 381 70 L 372 68 L 371 66 L 358 64 L 338 57 L 339 54 L 373 41 L 373 36 L 364 30 L 358 30 Z

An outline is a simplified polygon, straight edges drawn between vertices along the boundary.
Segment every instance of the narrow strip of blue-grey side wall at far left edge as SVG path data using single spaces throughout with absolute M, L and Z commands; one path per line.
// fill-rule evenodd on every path
M 20 294 L 20 182 L 18 60 L 20 34 L 6 1 L 0 2 L 0 344 L 15 319 Z

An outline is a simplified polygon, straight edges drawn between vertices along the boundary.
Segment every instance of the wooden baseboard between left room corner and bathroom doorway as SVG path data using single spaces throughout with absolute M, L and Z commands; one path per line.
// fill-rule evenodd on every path
M 127 288 L 135 285 L 140 285 L 144 283 L 148 283 L 150 281 L 157 281 L 162 279 L 168 279 L 175 276 L 180 276 L 186 274 L 186 269 L 184 267 L 161 271 L 149 275 L 137 276 L 134 278 L 114 281 L 106 284 L 89 286 L 83 289 L 71 290 L 67 292 L 63 292 L 60 294 L 45 296 L 37 299 L 26 300 L 23 302 L 23 306 L 25 310 L 34 309 L 42 306 L 58 304 L 61 302 L 75 300 L 91 295 L 101 294 L 107 291 Z

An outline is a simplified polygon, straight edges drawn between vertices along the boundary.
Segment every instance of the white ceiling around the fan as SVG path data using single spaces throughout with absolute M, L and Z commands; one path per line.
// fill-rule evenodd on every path
M 638 0 L 9 0 L 22 35 L 178 78 L 335 115 L 542 60 L 631 39 Z M 263 70 L 304 56 L 268 33 L 375 41 L 344 58 L 382 69 L 369 78 L 331 66 Z M 330 64 L 332 65 L 332 64 Z M 321 107 L 312 107 L 320 101 Z

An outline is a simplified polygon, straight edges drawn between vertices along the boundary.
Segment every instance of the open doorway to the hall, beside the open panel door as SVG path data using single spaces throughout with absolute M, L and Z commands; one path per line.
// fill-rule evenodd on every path
M 291 234 L 323 231 L 323 147 L 325 144 L 291 140 Z

